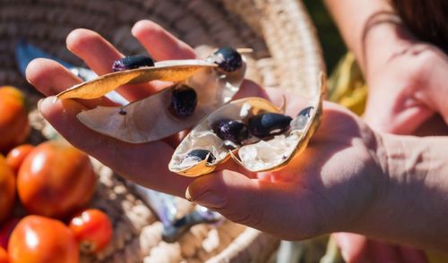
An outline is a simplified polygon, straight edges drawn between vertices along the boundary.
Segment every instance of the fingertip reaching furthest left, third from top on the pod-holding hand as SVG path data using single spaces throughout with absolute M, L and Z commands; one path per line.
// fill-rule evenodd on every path
M 27 80 L 45 96 L 55 95 L 81 82 L 72 72 L 62 64 L 47 58 L 37 58 L 28 64 Z M 83 100 L 83 106 L 115 106 L 108 98 Z

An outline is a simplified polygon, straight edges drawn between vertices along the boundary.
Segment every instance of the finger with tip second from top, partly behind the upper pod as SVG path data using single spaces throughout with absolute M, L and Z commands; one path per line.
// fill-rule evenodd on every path
M 124 56 L 108 40 L 92 30 L 73 30 L 66 39 L 66 45 L 74 55 L 81 57 L 85 64 L 98 75 L 112 72 L 114 62 Z M 159 86 L 138 84 L 120 87 L 116 91 L 128 101 L 134 101 L 148 97 L 158 89 Z

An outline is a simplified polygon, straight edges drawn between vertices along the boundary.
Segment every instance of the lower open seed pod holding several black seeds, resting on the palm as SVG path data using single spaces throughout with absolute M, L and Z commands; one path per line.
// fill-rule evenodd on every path
M 263 98 L 242 98 L 221 106 L 179 144 L 169 170 L 185 176 L 209 174 L 229 157 L 252 172 L 280 169 L 306 148 L 320 123 L 323 80 L 316 81 L 310 96 L 304 96 L 303 108 L 294 118 L 282 115 L 282 110 Z M 244 125 L 247 134 L 238 128 Z M 231 131 L 232 127 L 237 128 Z

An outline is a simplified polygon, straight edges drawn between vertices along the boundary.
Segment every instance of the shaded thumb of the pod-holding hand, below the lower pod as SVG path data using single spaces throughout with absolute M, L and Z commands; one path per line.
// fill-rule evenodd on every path
M 284 239 L 315 235 L 317 231 L 312 229 L 319 224 L 299 209 L 300 198 L 295 192 L 291 184 L 250 179 L 244 174 L 223 170 L 194 180 L 185 195 L 233 222 Z

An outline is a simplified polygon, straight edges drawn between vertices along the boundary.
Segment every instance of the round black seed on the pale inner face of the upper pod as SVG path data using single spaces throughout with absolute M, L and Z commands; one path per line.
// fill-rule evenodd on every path
M 197 94 L 194 89 L 180 85 L 171 94 L 171 111 L 177 117 L 185 117 L 194 113 L 197 105 Z

